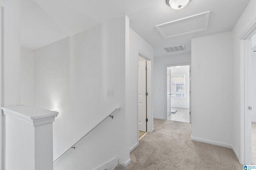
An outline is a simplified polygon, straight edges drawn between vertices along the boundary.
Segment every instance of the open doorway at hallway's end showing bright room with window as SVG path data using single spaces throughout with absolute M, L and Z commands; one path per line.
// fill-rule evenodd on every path
M 166 67 L 167 120 L 191 122 L 190 70 L 188 64 Z

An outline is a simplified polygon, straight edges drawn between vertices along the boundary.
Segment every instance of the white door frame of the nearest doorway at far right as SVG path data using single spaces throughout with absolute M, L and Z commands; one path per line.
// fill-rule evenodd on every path
M 256 18 L 240 35 L 240 164 L 252 164 L 251 37 L 256 33 Z

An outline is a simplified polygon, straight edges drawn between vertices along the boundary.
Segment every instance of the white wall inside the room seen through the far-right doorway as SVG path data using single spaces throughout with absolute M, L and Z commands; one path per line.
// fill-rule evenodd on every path
M 256 122 L 256 53 L 252 53 L 252 122 Z

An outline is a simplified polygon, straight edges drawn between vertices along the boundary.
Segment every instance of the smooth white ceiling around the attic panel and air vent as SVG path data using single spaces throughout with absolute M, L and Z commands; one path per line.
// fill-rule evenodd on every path
M 154 48 L 154 57 L 191 52 L 191 39 L 232 31 L 250 0 L 191 0 L 173 10 L 166 0 L 21 0 L 21 45 L 36 49 L 127 15 L 130 27 Z M 164 39 L 156 25 L 210 11 L 208 29 Z M 184 25 L 181 25 L 184 27 Z M 174 32 L 181 26 L 175 25 Z M 187 27 L 196 27 L 189 23 Z M 184 44 L 185 51 L 163 48 Z

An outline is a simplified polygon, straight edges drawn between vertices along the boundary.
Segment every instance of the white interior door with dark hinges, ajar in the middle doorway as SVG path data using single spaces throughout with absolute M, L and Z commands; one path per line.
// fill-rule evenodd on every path
M 139 131 L 146 132 L 146 60 L 138 67 L 138 124 Z

